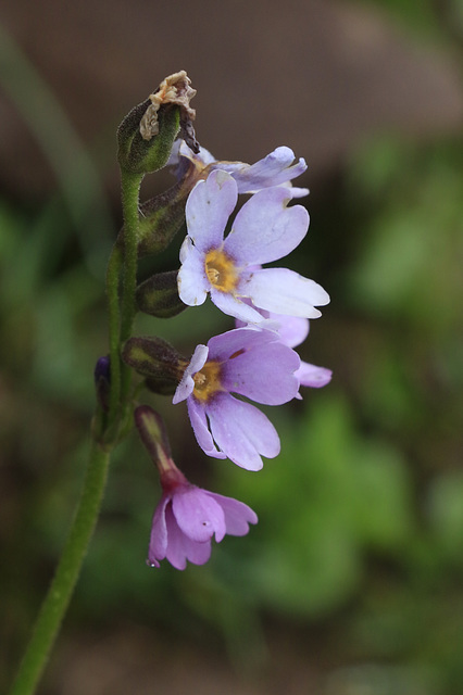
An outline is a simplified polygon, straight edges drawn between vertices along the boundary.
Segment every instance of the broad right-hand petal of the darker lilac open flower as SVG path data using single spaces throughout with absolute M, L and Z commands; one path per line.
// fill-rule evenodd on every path
M 287 345 L 258 343 L 223 364 L 222 386 L 258 403 L 281 405 L 298 393 L 295 371 L 299 365 L 299 355 Z

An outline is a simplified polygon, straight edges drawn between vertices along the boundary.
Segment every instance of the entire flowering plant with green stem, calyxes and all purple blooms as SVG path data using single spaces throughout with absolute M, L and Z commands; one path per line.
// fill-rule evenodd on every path
M 109 355 L 95 369 L 97 408 L 84 488 L 54 579 L 39 612 L 11 695 L 33 695 L 70 604 L 103 498 L 111 453 L 135 425 L 162 489 L 148 564 L 179 570 L 209 560 L 212 542 L 246 535 L 258 521 L 242 502 L 190 483 L 177 468 L 162 418 L 140 404 L 141 391 L 186 402 L 196 439 L 214 458 L 258 471 L 280 451 L 278 433 L 251 402 L 281 405 L 301 386 L 320 388 L 331 372 L 301 362 L 293 348 L 309 332 L 315 308 L 329 302 L 316 282 L 287 268 L 263 268 L 305 237 L 309 214 L 293 199 L 308 193 L 291 180 L 305 162 L 280 147 L 253 165 L 217 162 L 196 141 L 189 101 L 196 91 L 180 71 L 135 106 L 117 131 L 124 225 L 107 271 Z M 182 141 L 174 147 L 177 136 Z M 177 160 L 177 161 L 176 161 Z M 140 204 L 147 174 L 177 164 L 177 181 Z M 251 198 L 235 213 L 238 195 Z M 179 269 L 138 285 L 138 262 L 158 255 L 186 226 Z M 138 311 L 171 318 L 207 295 L 236 328 L 183 357 L 159 337 L 133 334 Z M 142 378 L 134 386 L 134 372 Z M 238 397 L 236 397 L 238 396 Z M 243 400 L 246 399 L 246 400 Z

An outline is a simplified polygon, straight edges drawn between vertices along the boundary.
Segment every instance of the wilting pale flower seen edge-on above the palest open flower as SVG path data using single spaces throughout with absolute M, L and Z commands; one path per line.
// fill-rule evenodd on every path
M 186 161 L 195 165 L 199 178 L 208 178 L 209 174 L 215 169 L 228 172 L 238 185 L 238 193 L 255 193 L 271 186 L 287 187 L 291 198 L 302 198 L 309 193 L 309 189 L 295 188 L 290 182 L 303 174 L 308 165 L 302 157 L 292 164 L 295 153 L 287 147 L 276 148 L 254 164 L 245 164 L 245 162 L 217 161 L 211 152 L 201 147 L 198 154 L 195 154 L 185 140 L 177 140 L 168 164 L 177 166 L 179 177 Z

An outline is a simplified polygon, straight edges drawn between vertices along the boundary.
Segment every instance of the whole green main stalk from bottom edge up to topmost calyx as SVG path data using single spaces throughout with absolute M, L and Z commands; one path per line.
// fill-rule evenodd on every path
M 186 90 L 189 83 L 186 74 L 179 75 L 179 80 L 182 89 Z M 163 106 L 163 103 L 166 105 Z M 148 104 L 149 100 L 145 105 L 145 111 Z M 140 134 L 140 118 L 143 115 L 143 108 L 135 108 L 118 129 L 117 156 L 122 179 L 124 231 L 122 243 L 114 244 L 107 271 L 109 368 L 108 374 L 103 377 L 101 374 L 96 374 L 97 408 L 91 424 L 92 441 L 80 501 L 11 695 L 33 695 L 36 691 L 71 602 L 97 525 L 111 453 L 127 433 L 132 369 L 122 361 L 121 346 L 132 336 L 137 311 L 135 298 L 140 224 L 140 184 L 147 172 L 158 170 L 165 165 L 180 127 L 178 105 L 173 105 L 164 99 L 158 111 L 160 111 L 159 136 L 153 132 L 157 137 L 149 138 L 151 142 L 146 142 L 146 138 L 142 138 Z M 152 225 L 152 233 L 155 233 L 155 224 Z M 122 295 L 120 292 L 121 275 Z M 103 362 L 105 361 L 103 358 Z M 97 371 L 99 371 L 101 362 L 100 359 Z

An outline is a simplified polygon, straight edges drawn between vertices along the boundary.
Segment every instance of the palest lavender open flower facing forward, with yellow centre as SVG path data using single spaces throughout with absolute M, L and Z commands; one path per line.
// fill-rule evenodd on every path
M 224 314 L 261 327 L 268 327 L 268 321 L 256 309 L 318 317 L 315 306 L 329 302 L 320 285 L 287 268 L 254 267 L 296 249 L 309 228 L 306 210 L 287 207 L 287 188 L 261 190 L 245 203 L 224 239 L 237 198 L 237 182 L 221 169 L 191 191 L 186 205 L 188 236 L 182 245 L 177 277 L 180 300 L 196 306 L 210 293 Z M 246 304 L 246 299 L 254 306 Z

